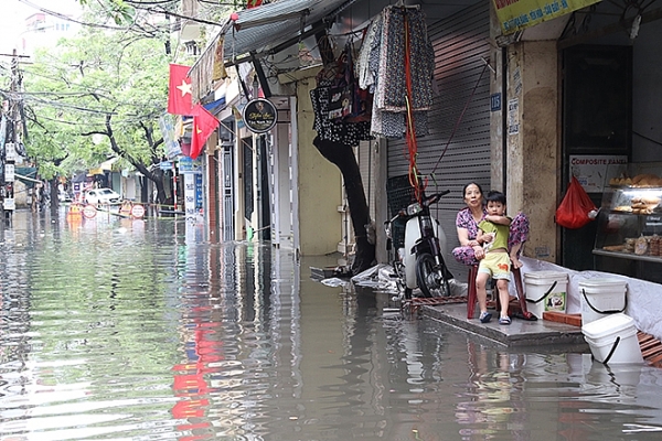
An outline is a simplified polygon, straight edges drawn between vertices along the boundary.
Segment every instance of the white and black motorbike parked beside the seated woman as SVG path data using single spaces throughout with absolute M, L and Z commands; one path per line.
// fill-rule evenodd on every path
M 427 197 L 423 195 L 420 202 L 413 202 L 384 223 L 393 277 L 405 299 L 410 299 L 416 288 L 426 298 L 450 295 L 444 261 L 446 234 L 430 213 L 430 205 L 448 193 L 450 191 L 446 190 Z M 396 248 L 394 229 L 403 223 L 404 243 Z

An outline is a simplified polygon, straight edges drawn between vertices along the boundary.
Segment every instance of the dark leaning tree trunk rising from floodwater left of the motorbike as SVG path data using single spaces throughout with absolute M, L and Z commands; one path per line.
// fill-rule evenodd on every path
M 354 155 L 352 146 L 335 143 L 316 138 L 314 147 L 329 162 L 335 164 L 344 180 L 348 204 L 356 240 L 356 254 L 352 262 L 352 275 L 356 275 L 372 267 L 375 261 L 375 245 L 367 239 L 366 226 L 371 223 L 361 170 Z

